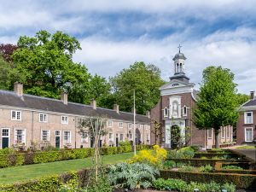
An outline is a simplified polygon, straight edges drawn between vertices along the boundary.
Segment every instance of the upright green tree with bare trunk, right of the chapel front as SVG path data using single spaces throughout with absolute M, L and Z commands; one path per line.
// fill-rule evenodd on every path
M 219 147 L 220 127 L 235 125 L 238 118 L 236 84 L 233 81 L 234 74 L 230 69 L 207 67 L 203 71 L 193 121 L 201 129 L 214 129 L 216 148 Z

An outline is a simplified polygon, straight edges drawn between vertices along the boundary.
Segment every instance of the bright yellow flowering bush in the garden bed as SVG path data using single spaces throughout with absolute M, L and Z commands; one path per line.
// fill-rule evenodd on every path
M 164 148 L 160 148 L 159 145 L 154 145 L 151 150 L 141 150 L 131 158 L 130 163 L 147 163 L 152 166 L 162 166 L 164 160 L 166 160 L 167 151 Z

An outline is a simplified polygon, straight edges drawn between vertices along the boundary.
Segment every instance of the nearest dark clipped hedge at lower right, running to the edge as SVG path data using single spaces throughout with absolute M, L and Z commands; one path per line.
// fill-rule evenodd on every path
M 209 183 L 234 183 L 240 189 L 256 189 L 256 175 L 236 174 L 236 173 L 215 173 L 215 172 L 175 172 L 171 170 L 160 171 L 160 177 L 180 178 L 186 182 Z

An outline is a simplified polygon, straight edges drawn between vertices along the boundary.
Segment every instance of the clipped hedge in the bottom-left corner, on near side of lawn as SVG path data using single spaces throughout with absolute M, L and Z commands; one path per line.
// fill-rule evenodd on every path
M 84 169 L 79 172 L 67 172 L 61 175 L 53 175 L 49 177 L 41 177 L 38 179 L 20 182 L 15 184 L 0 185 L 0 191 L 4 192 L 54 192 L 60 189 L 63 183 L 67 183 L 70 179 L 78 177 L 80 185 L 86 183 L 88 178 L 88 170 Z

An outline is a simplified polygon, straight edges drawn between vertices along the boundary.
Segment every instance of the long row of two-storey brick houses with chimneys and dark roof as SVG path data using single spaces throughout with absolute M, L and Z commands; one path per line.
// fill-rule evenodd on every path
M 0 90 L 0 146 L 10 147 L 23 143 L 26 148 L 36 144 L 57 148 L 89 148 L 93 140 L 84 132 L 79 134 L 80 118 L 104 116 L 108 119 L 108 134 L 101 145 L 118 146 L 120 141 L 133 141 L 133 113 L 97 108 L 96 101 L 84 105 L 67 101 L 23 94 L 23 84 L 15 83 L 15 91 Z M 147 115 L 136 115 L 137 143 L 150 143 L 150 119 Z

